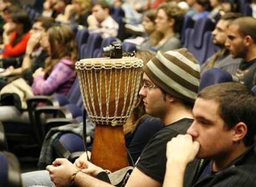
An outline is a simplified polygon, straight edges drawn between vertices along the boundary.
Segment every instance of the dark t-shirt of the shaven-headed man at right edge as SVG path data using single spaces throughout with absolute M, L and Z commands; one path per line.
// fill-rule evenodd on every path
M 252 89 L 256 84 L 256 58 L 249 62 L 242 62 L 237 70 L 236 76 L 245 86 Z

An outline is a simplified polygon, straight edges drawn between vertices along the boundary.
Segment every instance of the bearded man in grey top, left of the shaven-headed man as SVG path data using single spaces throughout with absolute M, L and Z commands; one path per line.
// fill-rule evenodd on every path
M 242 17 L 242 14 L 229 12 L 220 18 L 215 30 L 212 32 L 213 44 L 220 47 L 220 49 L 208 58 L 207 62 L 203 63 L 201 73 L 210 68 L 220 68 L 221 70 L 228 71 L 229 73 L 236 73 L 242 59 L 233 58 L 229 54 L 229 50 L 226 49 L 225 42 L 228 38 L 227 30 L 229 23 L 239 17 Z

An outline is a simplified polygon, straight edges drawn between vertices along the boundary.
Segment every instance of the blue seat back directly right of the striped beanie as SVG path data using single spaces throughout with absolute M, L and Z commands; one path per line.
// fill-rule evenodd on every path
M 198 91 L 204 89 L 207 86 L 211 86 L 213 84 L 219 84 L 222 82 L 238 82 L 238 78 L 228 73 L 227 71 L 211 68 L 206 70 L 200 80 L 200 85 Z

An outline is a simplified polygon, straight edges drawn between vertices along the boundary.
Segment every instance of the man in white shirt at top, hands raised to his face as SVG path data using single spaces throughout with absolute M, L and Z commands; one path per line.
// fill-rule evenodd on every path
M 97 1 L 92 7 L 92 14 L 87 18 L 90 33 L 100 33 L 102 38 L 116 37 L 119 25 L 109 15 L 109 4 Z

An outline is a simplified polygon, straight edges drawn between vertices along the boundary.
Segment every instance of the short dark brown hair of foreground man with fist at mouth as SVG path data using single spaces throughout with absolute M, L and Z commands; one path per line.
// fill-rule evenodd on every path
M 254 143 L 256 133 L 256 95 L 248 87 L 239 82 L 225 82 L 206 87 L 198 98 L 215 100 L 219 103 L 218 113 L 227 129 L 232 129 L 237 123 L 247 125 L 244 137 L 245 146 Z

